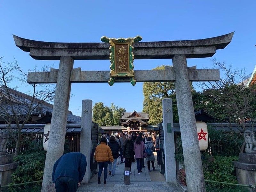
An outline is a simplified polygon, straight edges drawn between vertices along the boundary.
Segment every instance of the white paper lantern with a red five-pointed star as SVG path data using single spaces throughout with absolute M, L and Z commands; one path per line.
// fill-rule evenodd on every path
M 202 121 L 196 122 L 197 136 L 199 141 L 200 151 L 208 148 L 208 130 L 207 124 Z

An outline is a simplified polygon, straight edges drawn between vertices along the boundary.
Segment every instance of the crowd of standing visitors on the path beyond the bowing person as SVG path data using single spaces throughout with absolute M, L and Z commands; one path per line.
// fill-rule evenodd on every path
M 132 133 L 124 135 L 120 132 L 119 135 L 109 136 L 109 133 L 103 134 L 100 144 L 95 149 L 94 159 L 99 164 L 98 172 L 98 184 L 101 183 L 100 176 L 104 170 L 103 183 L 106 184 L 108 172 L 109 175 L 114 176 L 116 172 L 116 164 L 124 163 L 124 167 L 130 168 L 132 162 L 137 164 L 138 174 L 142 173 L 142 168 L 145 167 L 144 159 L 147 161 L 148 172 L 151 172 L 150 162 L 152 164 L 153 171 L 155 170 L 155 156 L 154 151 L 157 154 L 157 164 L 160 166 L 160 150 L 159 150 L 159 138 L 156 139 L 156 134 L 143 135 L 140 133 Z M 120 157 L 120 162 L 117 162 Z

